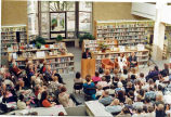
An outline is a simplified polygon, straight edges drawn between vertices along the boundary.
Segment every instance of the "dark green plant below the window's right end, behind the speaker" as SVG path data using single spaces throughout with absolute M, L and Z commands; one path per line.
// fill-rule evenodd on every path
M 79 47 L 80 48 L 82 47 L 82 42 L 83 42 L 84 39 L 94 40 L 95 38 L 94 38 L 93 35 L 91 35 L 89 32 L 84 34 L 83 36 L 80 35 L 79 36 Z

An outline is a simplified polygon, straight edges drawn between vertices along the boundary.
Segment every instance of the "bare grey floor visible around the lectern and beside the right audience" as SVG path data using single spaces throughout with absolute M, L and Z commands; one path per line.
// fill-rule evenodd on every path
M 80 48 L 67 48 L 68 52 L 71 52 L 75 55 L 75 72 L 81 72 L 81 49 Z M 169 63 L 169 61 L 159 61 L 159 62 L 150 62 L 150 66 L 145 66 L 144 68 L 139 68 L 139 73 L 143 72 L 145 75 L 148 74 L 149 69 L 153 69 L 155 64 L 159 66 L 159 68 L 163 68 L 163 63 Z M 68 93 L 73 92 L 74 78 L 75 75 L 63 75 L 64 81 L 66 82 L 66 87 Z

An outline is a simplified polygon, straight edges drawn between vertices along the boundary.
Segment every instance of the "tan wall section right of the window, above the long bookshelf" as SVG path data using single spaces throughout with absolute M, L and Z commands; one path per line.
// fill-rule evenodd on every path
M 130 2 L 93 2 L 93 21 L 143 20 L 131 14 Z

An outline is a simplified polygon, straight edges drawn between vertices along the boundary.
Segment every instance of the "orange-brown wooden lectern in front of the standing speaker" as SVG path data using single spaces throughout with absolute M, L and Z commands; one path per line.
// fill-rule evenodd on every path
M 81 77 L 86 78 L 87 75 L 95 75 L 95 58 L 81 60 Z

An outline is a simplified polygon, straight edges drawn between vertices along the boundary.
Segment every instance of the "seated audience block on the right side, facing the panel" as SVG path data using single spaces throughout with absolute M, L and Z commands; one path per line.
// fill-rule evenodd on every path
M 168 64 L 163 67 L 155 66 L 147 75 L 127 67 L 96 72 L 94 77 L 86 77 L 83 92 L 116 117 L 170 116 L 171 76 Z

